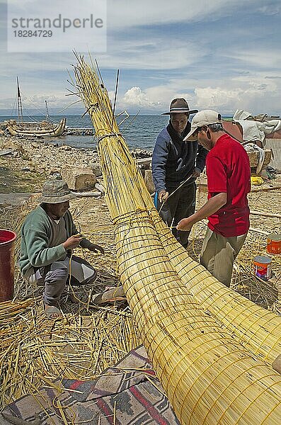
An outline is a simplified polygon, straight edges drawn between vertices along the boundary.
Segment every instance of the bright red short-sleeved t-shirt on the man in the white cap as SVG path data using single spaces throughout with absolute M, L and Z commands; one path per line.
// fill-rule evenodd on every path
M 251 169 L 243 146 L 222 135 L 206 158 L 208 199 L 227 193 L 226 204 L 208 217 L 208 227 L 224 237 L 245 234 L 250 226 L 247 193 L 251 191 Z

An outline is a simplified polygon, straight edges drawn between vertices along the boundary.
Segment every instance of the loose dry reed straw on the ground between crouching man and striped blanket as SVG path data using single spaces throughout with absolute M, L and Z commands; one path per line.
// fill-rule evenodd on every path
M 0 305 L 1 323 L 7 312 L 14 314 L 0 331 L 0 407 L 34 395 L 44 381 L 96 378 L 139 345 L 131 314 L 99 310 L 84 317 L 67 314 L 50 324 L 39 303 L 31 301 Z

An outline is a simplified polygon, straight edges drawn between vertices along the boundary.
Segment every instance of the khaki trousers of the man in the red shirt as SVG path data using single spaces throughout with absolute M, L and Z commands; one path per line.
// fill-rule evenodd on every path
M 212 275 L 226 286 L 230 286 L 232 268 L 236 256 L 246 239 L 247 234 L 241 236 L 223 237 L 212 232 L 209 227 L 203 241 L 200 263 Z

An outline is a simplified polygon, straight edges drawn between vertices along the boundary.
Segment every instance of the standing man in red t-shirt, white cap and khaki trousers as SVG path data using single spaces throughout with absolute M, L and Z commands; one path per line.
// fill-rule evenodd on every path
M 178 230 L 190 230 L 208 217 L 208 229 L 200 262 L 224 285 L 229 286 L 234 259 L 250 226 L 247 194 L 251 191 L 251 169 L 243 146 L 222 127 L 215 111 L 198 112 L 185 140 L 194 140 L 209 152 L 206 158 L 208 200 L 178 223 Z

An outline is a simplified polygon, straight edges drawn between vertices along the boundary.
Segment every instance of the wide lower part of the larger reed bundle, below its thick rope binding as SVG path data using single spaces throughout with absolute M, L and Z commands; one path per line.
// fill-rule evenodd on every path
M 115 235 L 127 300 L 181 423 L 252 424 L 254 412 L 273 402 L 263 385 L 276 385 L 270 421 L 277 421 L 280 375 L 256 361 L 197 305 L 173 271 L 149 215 L 123 216 Z M 265 399 L 256 399 L 260 390 Z M 257 423 L 268 413 L 260 412 Z

